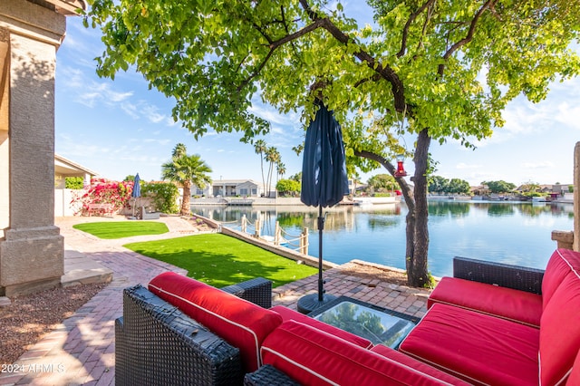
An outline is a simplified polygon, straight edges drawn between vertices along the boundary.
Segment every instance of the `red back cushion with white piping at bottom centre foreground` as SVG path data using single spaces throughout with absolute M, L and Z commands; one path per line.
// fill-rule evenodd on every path
M 273 365 L 301 384 L 441 384 L 410 366 L 295 321 L 282 323 L 270 333 L 261 352 L 264 364 Z

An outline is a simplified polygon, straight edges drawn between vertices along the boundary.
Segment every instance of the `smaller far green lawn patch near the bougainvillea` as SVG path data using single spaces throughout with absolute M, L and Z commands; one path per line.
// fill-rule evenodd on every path
M 158 221 L 104 221 L 73 225 L 73 228 L 99 238 L 122 238 L 141 235 L 160 235 L 169 232 L 164 223 Z

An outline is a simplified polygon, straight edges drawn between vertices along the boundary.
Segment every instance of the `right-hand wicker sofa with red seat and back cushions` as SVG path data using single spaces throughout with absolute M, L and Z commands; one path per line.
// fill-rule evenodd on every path
M 456 258 L 428 307 L 401 352 L 473 384 L 579 384 L 579 253 L 546 271 Z

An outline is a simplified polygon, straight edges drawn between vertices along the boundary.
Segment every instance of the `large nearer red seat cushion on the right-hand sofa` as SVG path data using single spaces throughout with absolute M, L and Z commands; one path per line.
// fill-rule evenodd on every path
M 475 383 L 537 385 L 540 330 L 433 304 L 399 350 Z

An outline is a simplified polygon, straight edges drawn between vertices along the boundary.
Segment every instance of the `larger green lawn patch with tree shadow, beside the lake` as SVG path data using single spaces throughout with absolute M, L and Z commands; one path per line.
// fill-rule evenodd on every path
M 312 266 L 277 256 L 258 246 L 221 234 L 203 234 L 131 243 L 125 247 L 188 270 L 194 277 L 218 288 L 265 277 L 274 286 L 314 275 Z

